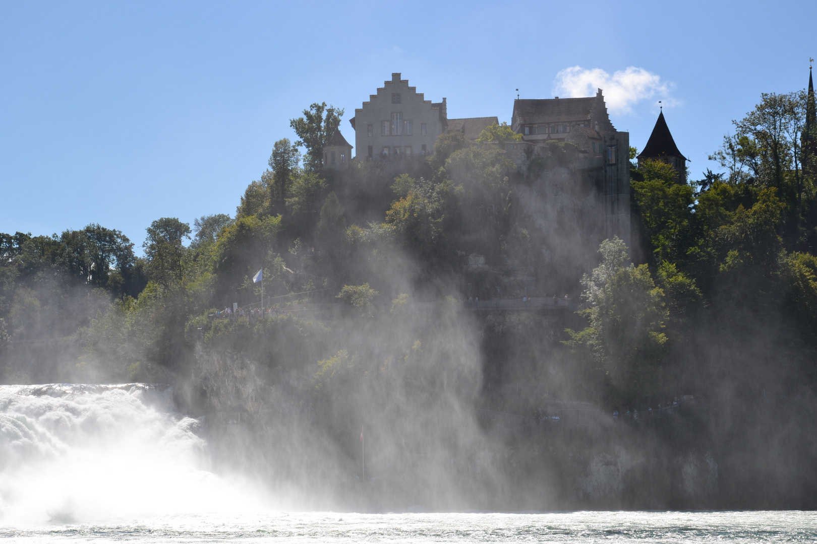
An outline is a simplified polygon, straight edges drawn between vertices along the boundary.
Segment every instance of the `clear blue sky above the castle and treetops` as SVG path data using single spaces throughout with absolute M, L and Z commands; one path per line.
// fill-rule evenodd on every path
M 804 88 L 813 2 L 0 2 L 0 232 L 234 214 L 288 120 L 346 121 L 400 72 L 449 117 L 614 92 L 643 148 L 658 100 L 691 174 L 761 92 Z M 574 67 L 579 67 L 575 69 Z M 572 71 L 565 71 L 573 69 Z M 630 69 L 627 71 L 627 69 Z M 618 73 L 618 74 L 617 74 Z M 610 91 L 614 90 L 614 91 Z

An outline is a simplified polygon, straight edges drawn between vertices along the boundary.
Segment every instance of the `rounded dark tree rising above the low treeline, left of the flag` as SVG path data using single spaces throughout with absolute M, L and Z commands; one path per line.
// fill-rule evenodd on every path
M 142 246 L 148 259 L 151 280 L 168 288 L 178 286 L 184 279 L 184 258 L 187 248 L 185 238 L 190 239 L 190 225 L 175 217 L 163 217 L 150 223 L 148 237 Z

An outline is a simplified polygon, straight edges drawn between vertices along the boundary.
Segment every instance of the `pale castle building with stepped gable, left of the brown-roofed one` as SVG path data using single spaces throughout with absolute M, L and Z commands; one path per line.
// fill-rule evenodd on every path
M 355 108 L 349 122 L 355 129 L 357 160 L 399 161 L 433 153 L 437 136 L 448 128 L 448 115 L 445 99 L 426 100 L 400 73 L 392 73 L 391 81 Z

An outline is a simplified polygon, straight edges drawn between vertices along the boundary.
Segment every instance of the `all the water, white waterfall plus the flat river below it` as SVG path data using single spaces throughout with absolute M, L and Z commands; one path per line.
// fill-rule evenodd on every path
M 817 514 L 287 511 L 209 470 L 170 391 L 0 386 L 0 538 L 9 542 L 817 542 Z

